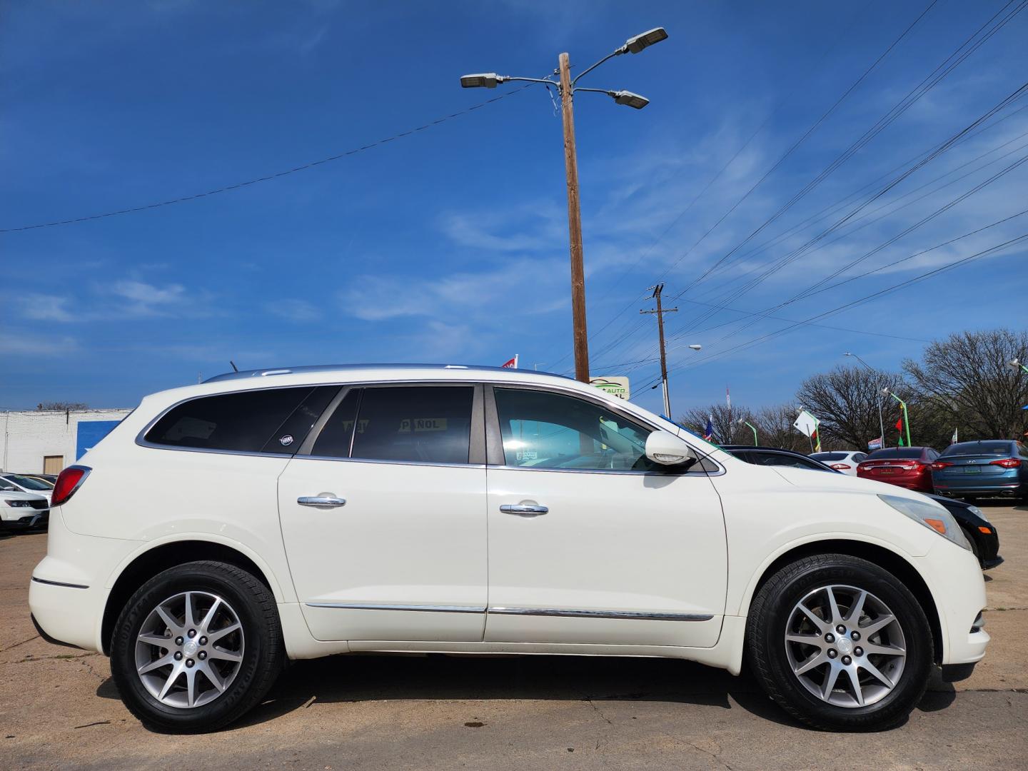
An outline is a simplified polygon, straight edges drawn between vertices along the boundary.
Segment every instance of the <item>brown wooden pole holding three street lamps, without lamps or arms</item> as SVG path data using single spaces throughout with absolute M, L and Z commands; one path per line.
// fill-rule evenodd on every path
M 567 232 L 572 257 L 572 322 L 575 328 L 575 378 L 589 382 L 589 338 L 585 325 L 585 268 L 582 265 L 582 210 L 578 194 L 575 111 L 572 105 L 571 59 L 561 53 L 560 112 L 564 122 L 564 168 L 567 172 Z

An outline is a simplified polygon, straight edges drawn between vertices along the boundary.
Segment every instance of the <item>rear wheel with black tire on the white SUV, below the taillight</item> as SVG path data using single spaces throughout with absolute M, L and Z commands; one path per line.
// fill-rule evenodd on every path
M 121 610 L 111 638 L 121 699 L 157 731 L 205 733 L 237 720 L 264 697 L 284 659 L 270 590 L 224 562 L 157 574 Z

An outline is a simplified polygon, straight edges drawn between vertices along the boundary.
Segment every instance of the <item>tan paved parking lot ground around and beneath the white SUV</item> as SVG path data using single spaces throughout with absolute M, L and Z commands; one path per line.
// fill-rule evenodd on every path
M 143 729 L 107 659 L 44 642 L 28 582 L 45 536 L 0 537 L 0 768 L 1028 768 L 1028 507 L 983 507 L 985 661 L 886 733 L 788 721 L 755 682 L 658 659 L 352 656 L 300 662 L 242 724 Z

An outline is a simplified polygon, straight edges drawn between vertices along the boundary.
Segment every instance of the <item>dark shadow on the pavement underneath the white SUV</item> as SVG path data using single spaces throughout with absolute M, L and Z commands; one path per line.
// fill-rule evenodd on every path
M 110 678 L 101 684 L 97 695 L 119 698 Z M 919 709 L 937 711 L 954 698 L 953 686 L 937 677 Z M 764 720 L 806 730 L 779 709 L 745 669 L 736 677 L 675 659 L 440 654 L 334 656 L 293 662 L 267 697 L 227 730 L 259 725 L 319 704 L 503 699 L 741 707 Z

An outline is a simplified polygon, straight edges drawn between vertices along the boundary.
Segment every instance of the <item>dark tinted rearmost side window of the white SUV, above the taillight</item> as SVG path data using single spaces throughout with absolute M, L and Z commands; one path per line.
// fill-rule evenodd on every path
M 337 386 L 308 386 L 192 399 L 157 420 L 146 433 L 146 440 L 171 447 L 291 454 L 317 419 L 307 412 L 321 401 L 327 403 L 338 390 Z M 325 392 L 329 392 L 327 399 Z M 307 410 L 299 409 L 301 406 Z

